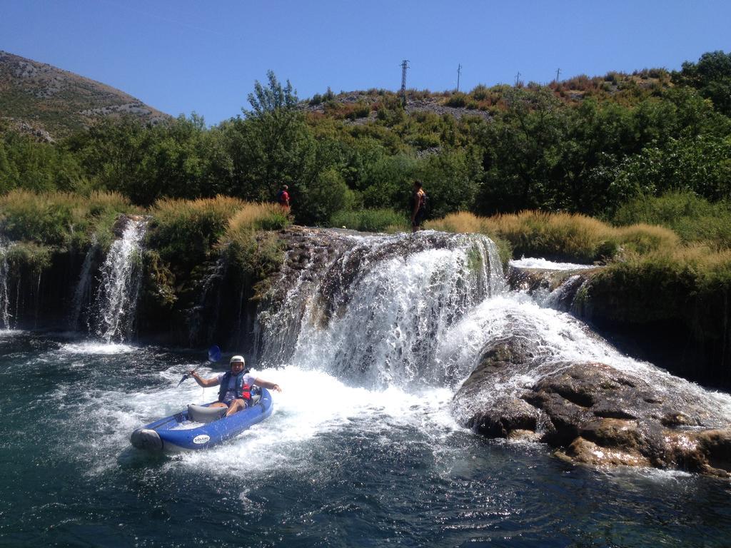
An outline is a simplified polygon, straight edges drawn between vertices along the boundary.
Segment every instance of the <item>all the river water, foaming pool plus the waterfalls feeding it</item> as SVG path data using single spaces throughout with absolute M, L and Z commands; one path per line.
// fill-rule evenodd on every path
M 86 339 L 0 331 L 0 547 L 731 544 L 727 481 L 569 465 L 548 446 L 489 441 L 455 421 L 450 402 L 480 349 L 516 328 L 559 362 L 669 377 L 550 309 L 550 295 L 507 292 L 484 237 L 346 235 L 330 262 L 283 267 L 251 360 L 283 389 L 272 416 L 194 454 L 133 449 L 135 428 L 217 394 L 176 386 L 205 349 L 119 342 L 135 319 L 138 225 L 107 256 L 90 313 L 77 300 L 71 325 L 86 316 Z M 690 393 L 731 416 L 728 395 Z

